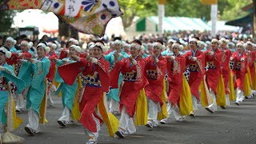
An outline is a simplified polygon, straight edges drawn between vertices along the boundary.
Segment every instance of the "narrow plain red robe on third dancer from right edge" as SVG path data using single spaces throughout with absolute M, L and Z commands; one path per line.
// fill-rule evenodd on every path
M 230 90 L 228 88 L 228 83 L 230 79 L 230 57 L 231 57 L 231 50 L 223 50 L 222 52 L 222 77 L 225 86 L 225 94 L 230 94 Z

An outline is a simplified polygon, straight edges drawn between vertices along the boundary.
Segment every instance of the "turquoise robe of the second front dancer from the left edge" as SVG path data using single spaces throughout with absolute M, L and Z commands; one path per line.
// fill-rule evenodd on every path
M 40 104 L 46 93 L 45 78 L 50 70 L 50 60 L 44 57 L 34 63 L 29 63 L 28 66 L 28 72 L 30 72 L 32 79 L 26 95 L 26 108 L 32 107 L 39 114 Z

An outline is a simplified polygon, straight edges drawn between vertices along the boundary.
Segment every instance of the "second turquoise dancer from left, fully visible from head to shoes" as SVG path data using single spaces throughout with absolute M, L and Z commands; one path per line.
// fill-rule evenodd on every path
M 39 132 L 39 118 L 41 118 L 40 121 L 42 123 L 45 122 L 45 115 L 39 113 L 39 110 L 46 94 L 45 78 L 50 69 L 50 60 L 45 57 L 46 53 L 50 51 L 46 42 L 39 43 L 37 50 L 38 59 L 23 60 L 24 63 L 28 63 L 26 73 L 30 73 L 32 76 L 31 85 L 26 95 L 26 108 L 28 109 L 29 123 L 26 125 L 25 130 L 30 135 Z M 46 110 L 45 107 L 43 108 Z

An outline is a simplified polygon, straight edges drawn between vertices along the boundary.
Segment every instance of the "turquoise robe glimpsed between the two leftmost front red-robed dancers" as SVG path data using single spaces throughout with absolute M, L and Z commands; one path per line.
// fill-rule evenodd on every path
M 114 52 L 110 52 L 110 54 L 106 54 L 104 56 L 104 59 L 106 61 L 108 61 L 110 63 L 110 69 L 112 69 L 114 67 Z M 122 54 L 122 56 L 118 56 L 118 61 L 121 61 L 122 58 L 128 58 L 129 55 L 126 54 L 126 52 L 121 51 L 120 54 Z M 122 74 L 119 74 L 119 78 L 118 78 L 118 89 L 111 89 L 110 93 L 106 95 L 106 98 L 110 99 L 113 98 L 115 101 L 120 102 L 120 98 L 119 98 L 119 88 L 120 85 L 122 83 Z

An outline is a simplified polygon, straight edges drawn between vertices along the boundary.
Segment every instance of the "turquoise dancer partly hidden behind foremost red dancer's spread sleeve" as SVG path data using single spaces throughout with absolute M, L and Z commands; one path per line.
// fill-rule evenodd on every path
M 76 62 L 72 57 L 78 56 L 81 53 L 80 46 L 72 45 L 70 46 L 69 50 L 70 52 L 67 58 L 63 58 L 62 60 L 59 60 L 59 59 L 55 60 L 57 66 L 62 66 L 67 63 Z M 61 82 L 55 94 L 58 95 L 60 92 L 62 92 L 62 105 L 64 107 L 62 116 L 61 118 L 58 119 L 58 124 L 60 126 L 66 126 L 66 124 L 73 123 L 73 120 L 70 118 L 70 114 L 74 106 L 74 101 L 75 101 L 74 98 L 78 90 L 78 82 L 74 81 L 73 85 L 70 86 L 63 81 L 63 79 L 60 77 L 58 73 L 56 73 L 55 81 Z

